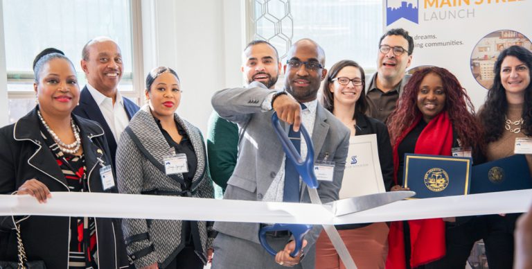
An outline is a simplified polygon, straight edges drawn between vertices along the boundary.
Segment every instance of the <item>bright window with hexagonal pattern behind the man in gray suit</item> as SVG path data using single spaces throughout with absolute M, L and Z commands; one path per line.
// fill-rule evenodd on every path
M 378 42 L 383 33 L 381 0 L 248 0 L 247 3 L 249 41 L 268 40 L 283 58 L 292 42 L 308 37 L 325 50 L 327 68 L 339 60 L 349 59 L 366 71 L 375 71 Z

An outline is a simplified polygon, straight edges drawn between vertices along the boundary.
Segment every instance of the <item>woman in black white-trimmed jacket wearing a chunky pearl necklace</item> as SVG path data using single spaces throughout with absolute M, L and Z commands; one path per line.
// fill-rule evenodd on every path
M 46 202 L 51 191 L 116 192 L 116 181 L 100 180 L 100 168 L 111 168 L 102 128 L 72 114 L 80 96 L 72 62 L 47 49 L 34 66 L 38 105 L 0 129 L 0 193 Z M 16 229 L 28 261 L 44 261 L 47 268 L 128 266 L 120 222 L 113 218 L 1 217 L 0 260 L 17 261 Z

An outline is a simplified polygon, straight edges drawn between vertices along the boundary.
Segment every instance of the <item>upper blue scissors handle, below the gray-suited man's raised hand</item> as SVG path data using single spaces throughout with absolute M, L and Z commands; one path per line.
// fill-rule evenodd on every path
M 285 150 L 286 157 L 294 164 L 297 172 L 299 175 L 301 175 L 301 179 L 303 179 L 303 181 L 310 188 L 317 189 L 318 180 L 314 174 L 314 148 L 312 148 L 312 139 L 310 138 L 310 134 L 308 134 L 307 130 L 305 129 L 305 126 L 301 124 L 299 128 L 299 130 L 301 130 L 301 134 L 305 138 L 305 141 L 307 141 L 307 157 L 303 160 L 301 155 L 299 155 L 294 147 L 294 144 L 292 144 L 288 138 L 285 130 L 283 130 L 283 127 L 281 127 L 277 112 L 272 114 L 272 124 L 274 125 L 274 130 L 279 138 L 279 141 L 281 141 L 281 146 L 283 146 L 283 150 Z M 294 126 L 290 125 L 290 128 L 294 128 Z

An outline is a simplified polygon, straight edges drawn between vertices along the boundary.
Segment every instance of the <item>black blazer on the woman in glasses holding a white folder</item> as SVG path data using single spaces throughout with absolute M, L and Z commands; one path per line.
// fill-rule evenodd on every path
M 355 135 L 377 134 L 382 180 L 384 180 L 384 188 L 386 191 L 390 191 L 393 186 L 393 155 L 388 128 L 378 119 L 370 118 L 364 114 L 357 114 L 357 125 L 355 125 L 355 129 L 357 130 Z

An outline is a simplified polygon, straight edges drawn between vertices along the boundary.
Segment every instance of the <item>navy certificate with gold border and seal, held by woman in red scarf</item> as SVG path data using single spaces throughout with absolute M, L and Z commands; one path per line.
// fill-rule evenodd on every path
M 468 195 L 471 157 L 405 154 L 405 187 L 416 192 L 412 198 Z

